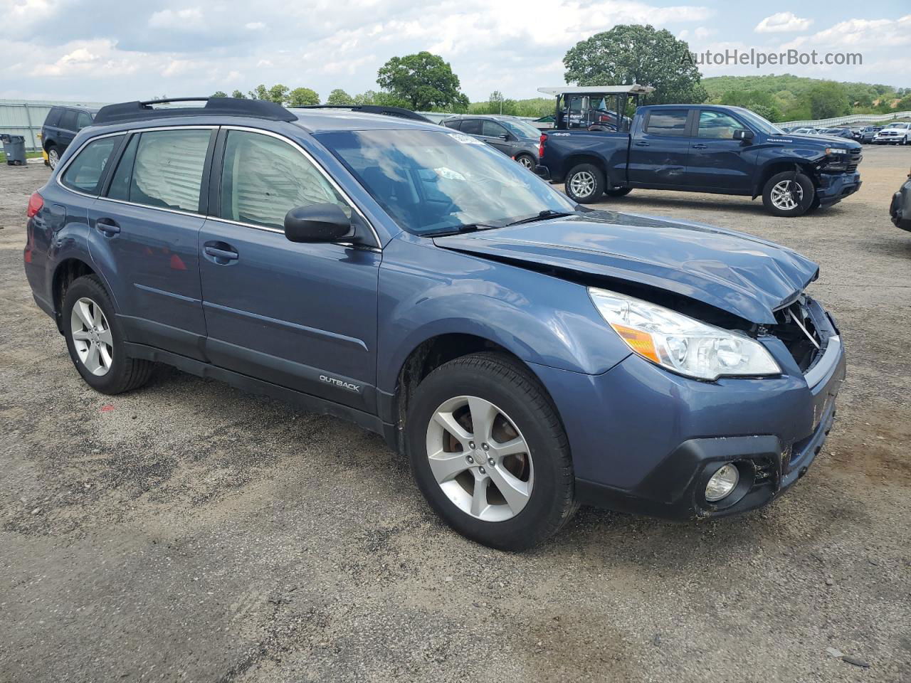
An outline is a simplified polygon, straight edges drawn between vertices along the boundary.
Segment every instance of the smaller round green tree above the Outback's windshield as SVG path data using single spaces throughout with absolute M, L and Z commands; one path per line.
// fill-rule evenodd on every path
M 443 57 L 429 52 L 394 56 L 376 73 L 376 83 L 415 110 L 467 107 L 458 76 Z

